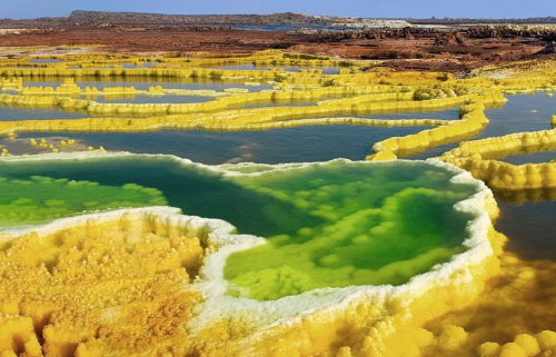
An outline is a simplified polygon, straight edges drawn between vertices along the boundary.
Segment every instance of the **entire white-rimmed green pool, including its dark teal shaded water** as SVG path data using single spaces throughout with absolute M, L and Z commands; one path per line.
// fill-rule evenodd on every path
M 473 217 L 454 205 L 475 194 L 476 187 L 450 182 L 454 173 L 444 168 L 340 160 L 276 168 L 230 176 L 171 157 L 132 156 L 0 161 L 0 176 L 12 186 L 13 180 L 27 180 L 34 189 L 46 184 L 56 188 L 37 195 L 42 202 L 64 201 L 59 205 L 67 210 L 58 215 L 81 214 L 93 196 L 109 197 L 110 202 L 97 205 L 113 209 L 163 205 L 166 199 L 186 215 L 220 218 L 240 234 L 267 238 L 267 245 L 230 256 L 225 269 L 232 282 L 229 294 L 259 300 L 319 287 L 399 285 L 464 249 Z M 63 192 L 57 185 L 69 185 L 66 179 L 98 185 Z M 26 189 L 26 197 L 31 194 Z M 129 198 L 132 205 L 125 196 L 129 194 L 136 195 Z M 63 195 L 71 195 L 71 205 Z M 21 217 L 28 217 L 21 210 Z

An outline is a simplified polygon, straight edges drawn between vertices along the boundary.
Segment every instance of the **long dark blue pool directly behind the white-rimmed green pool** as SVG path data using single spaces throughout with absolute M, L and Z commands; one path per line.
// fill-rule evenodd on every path
M 18 138 L 72 138 L 85 146 L 136 153 L 168 153 L 196 162 L 309 162 L 335 158 L 363 160 L 374 142 L 424 127 L 307 126 L 260 131 L 161 130 L 152 132 L 22 133 Z M 7 139 L 4 139 L 7 140 Z M 4 141 L 8 142 L 8 141 Z M 2 141 L 0 140 L 0 145 Z

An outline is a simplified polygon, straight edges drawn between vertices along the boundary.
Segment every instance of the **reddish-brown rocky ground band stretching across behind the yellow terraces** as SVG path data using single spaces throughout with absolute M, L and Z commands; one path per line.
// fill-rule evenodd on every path
M 436 44 L 435 44 L 436 42 Z M 443 43 L 443 44 L 439 44 Z M 330 39 L 321 34 L 288 34 L 285 31 L 244 31 L 180 28 L 76 27 L 67 30 L 30 31 L 0 36 L 2 47 L 102 44 L 99 52 L 129 53 L 249 53 L 265 49 L 338 56 L 358 60 L 383 60 L 397 70 L 461 72 L 502 61 L 556 58 L 543 53 L 546 42 L 536 38 L 476 38 L 467 33 L 438 39 L 435 31 L 411 36 Z

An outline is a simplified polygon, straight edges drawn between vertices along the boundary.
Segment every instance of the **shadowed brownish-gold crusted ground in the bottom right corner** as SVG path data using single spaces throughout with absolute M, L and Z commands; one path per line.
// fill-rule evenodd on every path
M 556 319 L 556 264 L 526 261 L 510 252 L 504 252 L 500 262 L 498 277 L 466 308 L 424 325 L 435 336 L 435 343 L 421 350 L 425 356 L 450 355 L 443 344 L 448 329 L 450 338 L 465 330 L 457 349 L 461 356 L 556 356 L 556 333 L 549 330 Z

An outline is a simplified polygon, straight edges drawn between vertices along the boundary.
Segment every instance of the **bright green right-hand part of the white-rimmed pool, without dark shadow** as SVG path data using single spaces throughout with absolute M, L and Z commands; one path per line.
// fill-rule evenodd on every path
M 470 219 L 453 206 L 475 191 L 448 184 L 450 176 L 427 165 L 335 162 L 248 180 L 324 221 L 234 254 L 225 270 L 230 294 L 272 300 L 321 287 L 399 285 L 449 260 Z

